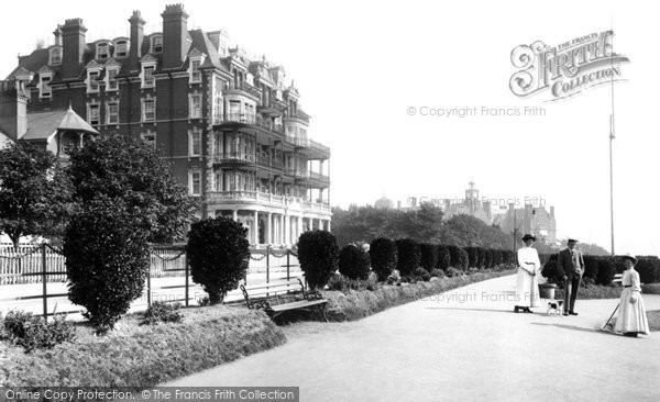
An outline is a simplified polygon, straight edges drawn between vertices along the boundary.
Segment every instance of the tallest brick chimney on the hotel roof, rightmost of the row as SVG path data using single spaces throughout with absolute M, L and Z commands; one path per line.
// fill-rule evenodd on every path
M 163 14 L 163 68 L 179 68 L 186 59 L 188 14 L 183 4 L 165 5 Z

